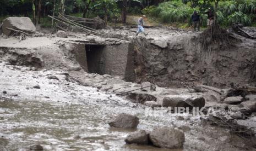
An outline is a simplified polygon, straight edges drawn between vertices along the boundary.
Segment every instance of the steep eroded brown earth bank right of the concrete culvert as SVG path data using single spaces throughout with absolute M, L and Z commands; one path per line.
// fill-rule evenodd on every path
M 147 37 L 135 38 L 135 30 L 123 28 L 110 32 L 133 37 L 137 82 L 149 81 L 167 87 L 195 83 L 218 88 L 228 88 L 230 84 L 255 85 L 256 41 L 253 39 L 233 33 L 237 40 L 230 47 L 213 43 L 205 49 L 201 32 L 146 28 Z

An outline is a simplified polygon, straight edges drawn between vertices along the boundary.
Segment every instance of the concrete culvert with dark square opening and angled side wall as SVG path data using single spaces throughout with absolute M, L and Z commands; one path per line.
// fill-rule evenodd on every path
M 77 61 L 86 72 L 135 80 L 134 45 L 130 42 L 115 45 L 68 43 L 61 47 L 68 59 Z

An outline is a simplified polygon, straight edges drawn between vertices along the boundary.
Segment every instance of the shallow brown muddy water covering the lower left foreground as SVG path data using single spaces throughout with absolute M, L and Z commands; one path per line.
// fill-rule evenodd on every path
M 139 129 L 156 126 L 157 121 L 147 120 L 142 108 L 102 100 L 98 104 L 2 100 L 1 144 L 7 150 L 26 150 L 34 143 L 46 150 L 155 150 L 124 143 L 130 131 L 111 129 L 107 124 L 119 112 L 137 114 Z

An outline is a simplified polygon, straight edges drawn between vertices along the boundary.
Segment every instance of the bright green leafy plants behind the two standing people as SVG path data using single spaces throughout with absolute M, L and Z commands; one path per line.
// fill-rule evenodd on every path
M 214 3 L 210 1 L 168 1 L 159 4 L 158 7 L 146 7 L 143 9 L 143 13 L 158 18 L 164 23 L 188 22 L 190 24 L 190 15 L 193 14 L 193 10 L 197 10 L 201 16 L 202 25 L 206 26 L 207 14 L 204 12 L 214 6 Z M 220 1 L 216 12 L 217 21 L 222 26 L 229 26 L 234 22 L 240 22 L 246 26 L 255 25 L 255 10 L 256 0 Z

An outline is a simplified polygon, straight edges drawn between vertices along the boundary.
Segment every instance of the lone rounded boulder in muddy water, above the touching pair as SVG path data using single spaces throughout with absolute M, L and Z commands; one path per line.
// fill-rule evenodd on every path
M 124 129 L 135 129 L 139 124 L 139 118 L 135 115 L 129 115 L 122 113 L 117 115 L 110 123 L 111 127 L 124 128 Z

